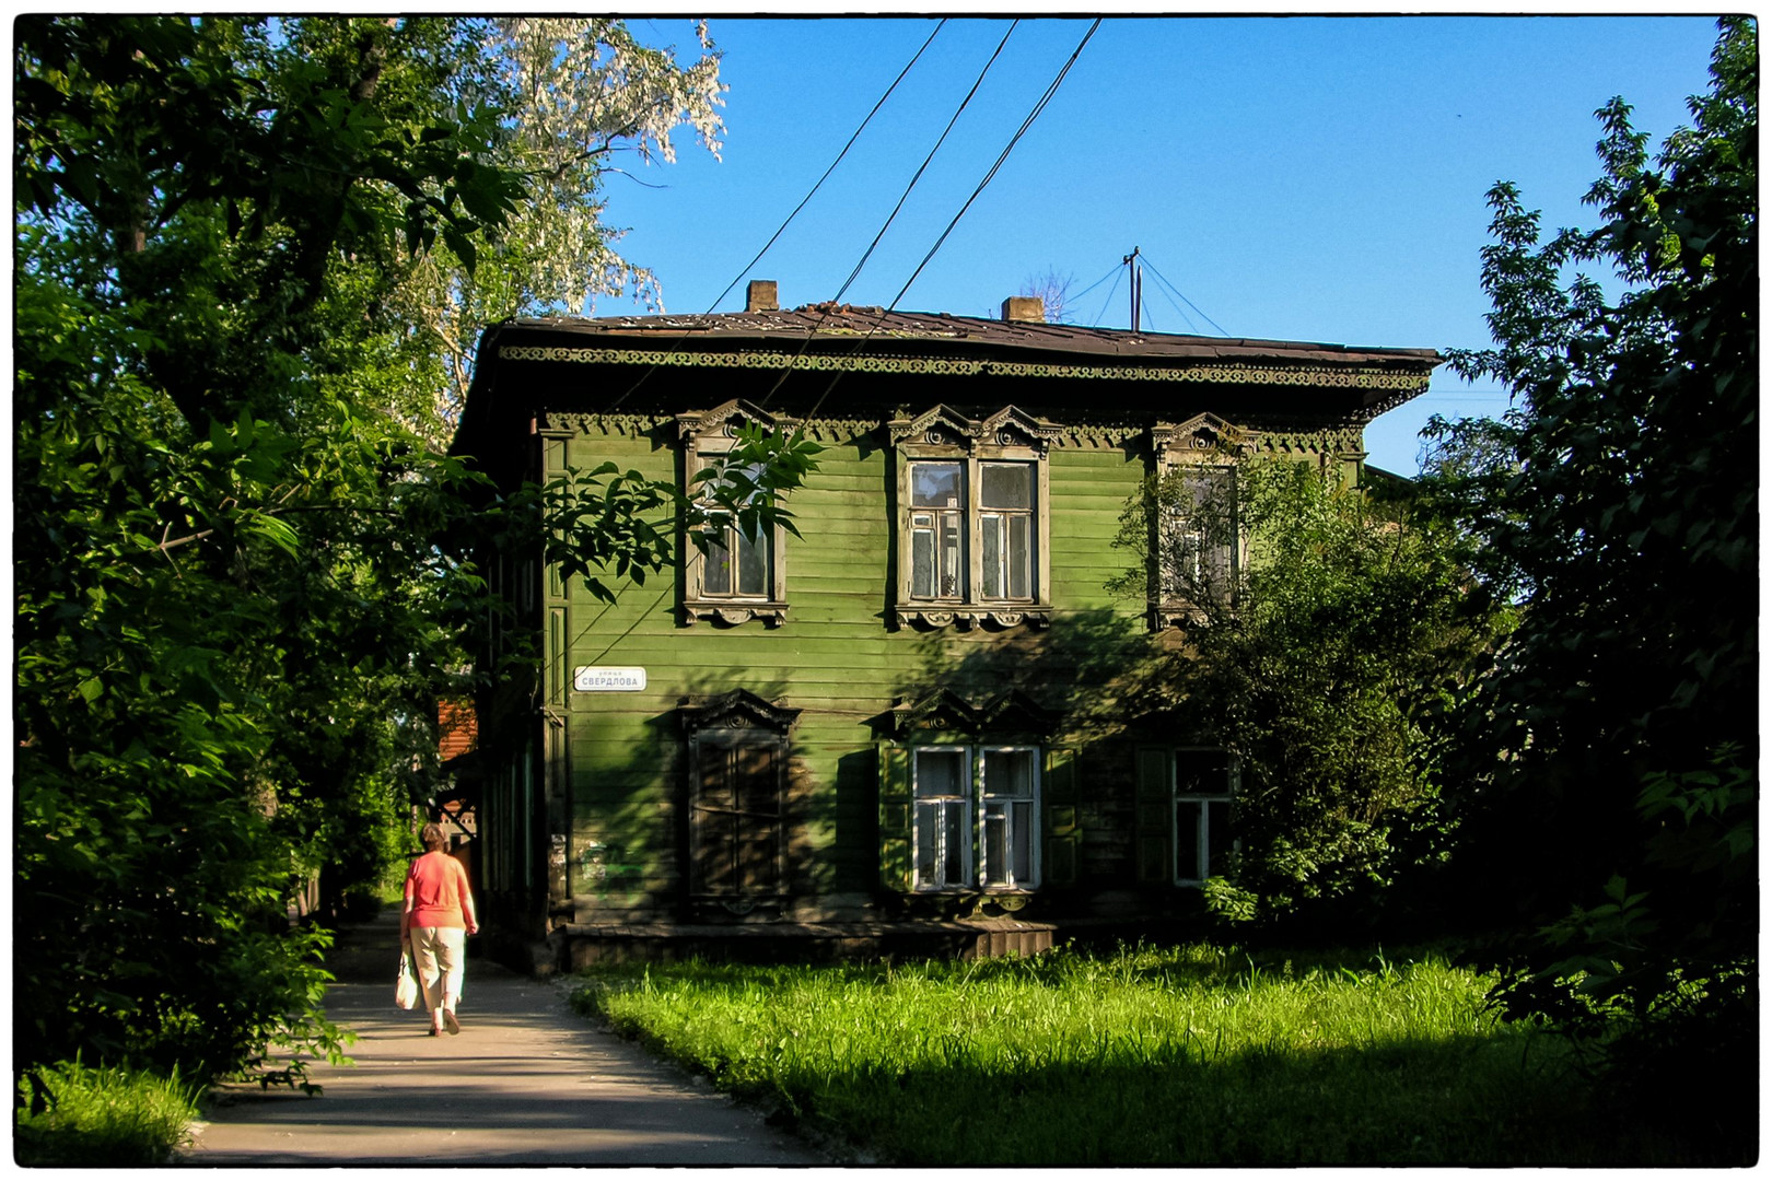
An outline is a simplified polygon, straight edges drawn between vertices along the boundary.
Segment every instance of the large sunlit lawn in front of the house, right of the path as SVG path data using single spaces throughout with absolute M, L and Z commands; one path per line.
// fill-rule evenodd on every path
M 1435 958 L 1212 947 L 587 972 L 587 1015 L 859 1160 L 1294 1165 L 1666 1158 L 1597 1126 L 1563 1043 Z M 1604 1121 L 1600 1121 L 1604 1123 Z

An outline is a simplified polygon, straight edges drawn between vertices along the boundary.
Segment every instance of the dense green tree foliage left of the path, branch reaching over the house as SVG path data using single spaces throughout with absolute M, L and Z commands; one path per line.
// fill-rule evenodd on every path
M 498 609 L 473 556 L 549 540 L 610 595 L 672 560 L 649 512 L 773 521 L 810 462 L 758 437 L 693 503 L 611 473 L 500 499 L 402 425 L 395 294 L 438 251 L 475 273 L 532 182 L 512 117 L 450 101 L 478 28 L 16 25 L 21 1069 L 337 1054 L 285 903 L 409 839 Z

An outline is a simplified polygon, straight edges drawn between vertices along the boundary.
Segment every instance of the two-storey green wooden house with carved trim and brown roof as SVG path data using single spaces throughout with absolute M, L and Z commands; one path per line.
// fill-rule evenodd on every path
M 682 482 L 744 423 L 824 448 L 801 536 L 684 545 L 613 606 L 539 556 L 494 570 L 544 655 L 478 703 L 501 954 L 983 954 L 1185 915 L 1237 768 L 1115 699 L 1185 611 L 1159 577 L 1106 590 L 1129 498 L 1210 482 L 1228 441 L 1357 476 L 1363 427 L 1437 354 L 1070 328 L 1037 299 L 748 305 L 480 343 L 455 452 L 501 483 L 606 460 Z

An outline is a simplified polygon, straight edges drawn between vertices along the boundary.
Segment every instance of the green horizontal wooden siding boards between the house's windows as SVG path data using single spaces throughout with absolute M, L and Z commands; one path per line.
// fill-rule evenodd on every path
M 565 443 L 579 469 L 613 460 L 650 478 L 679 478 L 668 432 L 599 432 Z M 898 698 L 950 687 L 982 701 L 1006 687 L 1049 708 L 1099 691 L 1122 645 L 1150 641 L 1145 604 L 1104 584 L 1131 556 L 1113 547 L 1146 462 L 1122 448 L 1049 453 L 1051 606 L 1047 630 L 891 630 L 890 515 L 893 452 L 874 441 L 829 446 L 790 506 L 803 538 L 787 540 L 787 621 L 680 623 L 677 572 L 624 586 L 601 604 L 567 588 L 567 680 L 579 666 L 640 666 L 643 692 L 569 692 L 565 744 L 569 891 L 579 922 L 679 914 L 686 779 L 677 706 L 742 687 L 801 710 L 790 735 L 789 884 L 812 899 L 877 891 L 875 733 Z M 1060 738 L 1061 735 L 1054 735 Z M 1131 882 L 1131 754 L 1083 747 L 1076 761 L 1079 878 Z M 1120 763 L 1125 767 L 1120 767 Z M 829 901 L 829 907 L 836 907 Z M 835 914 L 829 910 L 828 914 Z M 859 917 L 859 915 L 856 915 Z

